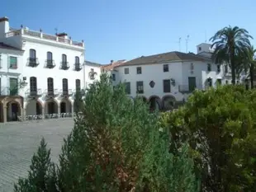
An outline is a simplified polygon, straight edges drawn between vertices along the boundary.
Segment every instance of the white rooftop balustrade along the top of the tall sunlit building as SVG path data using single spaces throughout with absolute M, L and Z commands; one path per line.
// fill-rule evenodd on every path
M 12 29 L 11 31 L 6 33 L 6 37 L 12 37 L 12 36 L 28 36 L 32 38 L 41 39 L 41 40 L 49 40 L 51 42 L 55 41 L 55 42 L 58 42 L 59 44 L 69 44 L 75 47 L 84 48 L 83 40 L 81 42 L 78 42 L 68 38 L 59 37 L 58 35 L 49 35 L 49 34 L 42 33 L 42 31 L 28 30 L 26 28 L 21 28 L 19 30 Z

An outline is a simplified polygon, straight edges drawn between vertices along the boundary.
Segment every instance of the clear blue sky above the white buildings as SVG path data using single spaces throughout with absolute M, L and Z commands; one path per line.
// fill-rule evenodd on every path
M 0 16 L 12 27 L 68 33 L 84 40 L 86 59 L 97 63 L 179 50 L 195 52 L 224 26 L 256 38 L 255 0 L 1 0 Z M 255 40 L 252 40 L 255 44 Z M 256 45 L 256 44 L 255 44 Z

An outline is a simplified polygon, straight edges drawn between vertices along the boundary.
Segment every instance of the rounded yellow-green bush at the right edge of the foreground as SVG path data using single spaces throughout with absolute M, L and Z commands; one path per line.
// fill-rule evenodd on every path
M 202 191 L 256 190 L 255 96 L 239 86 L 195 91 L 182 109 L 162 115 L 172 150 L 189 141 Z

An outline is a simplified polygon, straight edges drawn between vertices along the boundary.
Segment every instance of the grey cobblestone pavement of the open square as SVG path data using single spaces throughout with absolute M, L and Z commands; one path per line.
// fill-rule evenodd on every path
M 31 157 L 44 137 L 51 158 L 58 161 L 66 137 L 73 129 L 73 119 L 0 124 L 0 192 L 12 192 L 19 177 L 26 177 Z

